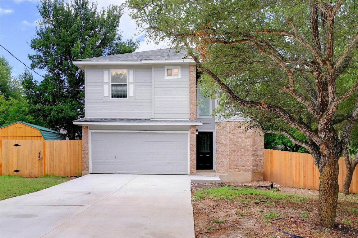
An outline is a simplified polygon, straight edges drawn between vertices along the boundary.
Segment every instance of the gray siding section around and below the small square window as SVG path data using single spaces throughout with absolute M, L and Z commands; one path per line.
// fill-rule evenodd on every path
M 164 65 L 154 67 L 154 118 L 189 120 L 189 66 L 180 79 L 164 79 Z

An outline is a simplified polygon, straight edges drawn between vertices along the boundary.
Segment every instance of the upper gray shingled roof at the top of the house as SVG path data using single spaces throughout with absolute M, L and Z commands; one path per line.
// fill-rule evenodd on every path
M 78 62 L 78 61 L 89 61 L 89 60 L 128 61 L 128 60 L 182 60 L 182 59 L 188 59 L 186 50 L 177 52 L 175 49 L 167 48 L 167 49 L 160 49 L 160 50 L 148 50 L 148 51 L 141 51 L 141 52 L 126 53 L 120 55 L 100 56 L 100 57 L 79 59 L 73 61 Z

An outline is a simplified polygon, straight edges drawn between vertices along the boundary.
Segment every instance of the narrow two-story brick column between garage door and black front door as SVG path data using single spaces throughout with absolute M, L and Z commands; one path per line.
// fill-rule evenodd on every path
M 189 120 L 197 119 L 197 68 L 189 65 Z M 195 174 L 197 169 L 197 126 L 190 126 L 189 130 L 189 153 L 190 174 Z

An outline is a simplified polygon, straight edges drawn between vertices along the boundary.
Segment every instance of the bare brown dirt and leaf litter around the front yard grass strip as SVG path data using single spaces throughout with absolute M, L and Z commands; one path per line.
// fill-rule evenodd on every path
M 192 194 L 205 188 L 221 187 L 224 184 L 192 183 Z M 253 182 L 227 184 L 233 186 L 267 186 L 257 187 L 270 190 L 270 182 Z M 194 209 L 195 236 L 198 238 L 254 238 L 290 237 L 285 231 L 305 238 L 353 238 L 358 237 L 358 196 L 339 194 L 337 206 L 337 227 L 334 230 L 315 228 L 318 207 L 318 191 L 290 188 L 274 184 L 279 193 L 304 195 L 308 198 L 297 201 L 265 201 L 242 202 L 232 200 L 216 200 L 210 197 L 192 199 Z M 277 217 L 267 218 L 267 214 Z M 215 220 L 216 219 L 216 220 Z M 281 230 L 281 231 L 279 231 Z

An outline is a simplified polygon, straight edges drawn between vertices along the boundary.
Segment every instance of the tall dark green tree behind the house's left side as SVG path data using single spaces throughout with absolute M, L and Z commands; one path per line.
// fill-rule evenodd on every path
M 29 59 L 32 68 L 47 75 L 41 82 L 29 72 L 21 76 L 30 111 L 38 125 L 81 138 L 81 127 L 72 121 L 84 114 L 84 73 L 72 60 L 133 52 L 139 42 L 122 41 L 118 34 L 119 6 L 97 9 L 88 0 L 42 0 L 38 10 L 41 20 L 30 43 L 35 54 Z

